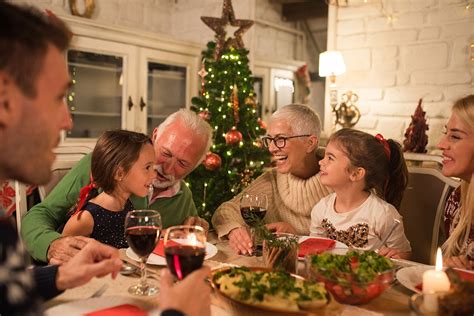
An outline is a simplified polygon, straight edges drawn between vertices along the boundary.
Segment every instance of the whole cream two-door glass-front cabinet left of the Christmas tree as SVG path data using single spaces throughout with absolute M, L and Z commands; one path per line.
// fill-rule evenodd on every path
M 198 93 L 201 47 L 155 35 L 83 25 L 66 58 L 71 76 L 67 105 L 73 129 L 63 141 L 95 141 L 123 128 L 151 135 L 171 113 Z

